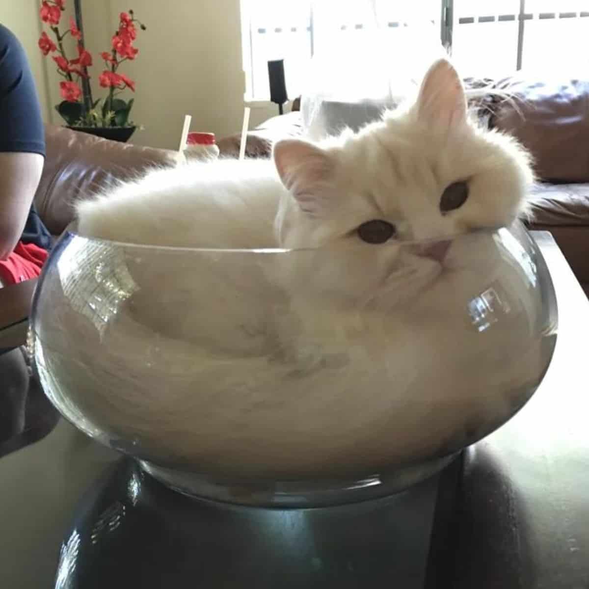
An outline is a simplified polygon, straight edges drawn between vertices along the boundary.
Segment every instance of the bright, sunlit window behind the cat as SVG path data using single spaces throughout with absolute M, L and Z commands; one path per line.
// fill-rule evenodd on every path
M 254 100 L 268 100 L 270 59 L 284 59 L 294 96 L 316 51 L 334 39 L 361 44 L 375 18 L 391 39 L 416 23 L 431 27 L 464 75 L 589 71 L 587 0 L 241 0 L 241 14 L 246 94 Z

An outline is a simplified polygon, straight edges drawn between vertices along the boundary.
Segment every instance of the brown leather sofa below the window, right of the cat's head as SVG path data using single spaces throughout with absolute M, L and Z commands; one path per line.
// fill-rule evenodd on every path
M 489 124 L 518 138 L 534 157 L 530 227 L 552 233 L 589 295 L 589 82 L 512 77 Z

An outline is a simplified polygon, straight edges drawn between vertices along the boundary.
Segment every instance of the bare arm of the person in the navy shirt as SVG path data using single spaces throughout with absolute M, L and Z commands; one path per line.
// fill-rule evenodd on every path
M 0 260 L 21 238 L 43 163 L 37 153 L 0 153 Z

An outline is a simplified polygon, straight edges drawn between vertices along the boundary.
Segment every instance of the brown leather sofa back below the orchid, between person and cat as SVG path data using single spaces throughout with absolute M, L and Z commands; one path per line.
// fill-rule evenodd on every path
M 184 154 L 109 141 L 65 127 L 45 125 L 47 157 L 35 194 L 39 216 L 52 234 L 73 219 L 72 205 L 117 180 L 130 180 L 150 167 L 176 166 Z

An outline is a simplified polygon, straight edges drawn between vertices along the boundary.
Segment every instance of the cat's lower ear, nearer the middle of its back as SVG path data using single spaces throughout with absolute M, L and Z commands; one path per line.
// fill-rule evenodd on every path
M 326 205 L 326 188 L 334 174 L 334 161 L 317 145 L 297 139 L 274 144 L 274 164 L 284 186 L 305 213 L 319 214 Z

